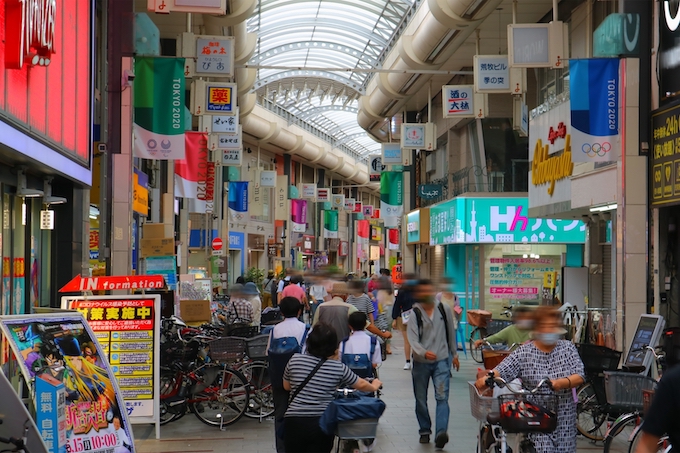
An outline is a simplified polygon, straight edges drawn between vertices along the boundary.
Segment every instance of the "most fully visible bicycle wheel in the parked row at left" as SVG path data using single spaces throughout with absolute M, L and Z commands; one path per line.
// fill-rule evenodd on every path
M 248 380 L 236 370 L 222 368 L 213 383 L 191 397 L 192 412 L 210 426 L 236 423 L 248 409 Z

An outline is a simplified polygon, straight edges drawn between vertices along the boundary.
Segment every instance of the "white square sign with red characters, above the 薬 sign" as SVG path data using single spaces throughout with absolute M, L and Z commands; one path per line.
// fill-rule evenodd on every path
M 234 37 L 196 36 L 198 76 L 232 77 L 234 75 Z

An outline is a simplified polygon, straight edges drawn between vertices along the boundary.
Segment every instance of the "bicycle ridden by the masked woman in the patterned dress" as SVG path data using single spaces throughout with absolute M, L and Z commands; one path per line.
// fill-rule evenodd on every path
M 483 396 L 475 382 L 469 382 L 470 411 L 480 422 L 477 453 L 535 453 L 535 447 L 526 435 L 557 429 L 557 395 L 539 393 L 544 386 L 551 388 L 550 379 L 542 379 L 531 390 L 515 390 L 512 383 L 489 373 L 486 384 L 491 390 L 495 386 L 506 388 L 510 394 Z M 508 447 L 508 434 L 517 434 L 512 447 Z

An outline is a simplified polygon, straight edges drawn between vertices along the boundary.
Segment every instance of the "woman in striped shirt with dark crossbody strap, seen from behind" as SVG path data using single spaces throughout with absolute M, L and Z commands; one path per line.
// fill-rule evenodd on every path
M 307 337 L 307 354 L 295 354 L 283 374 L 288 390 L 284 442 L 290 453 L 326 453 L 333 449 L 334 436 L 321 430 L 319 420 L 333 401 L 335 391 L 351 387 L 375 392 L 381 382 L 368 382 L 338 361 L 338 336 L 326 324 L 317 324 Z

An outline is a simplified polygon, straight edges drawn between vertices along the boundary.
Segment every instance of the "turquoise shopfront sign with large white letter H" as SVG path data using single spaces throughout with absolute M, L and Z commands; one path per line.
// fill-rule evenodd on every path
M 580 220 L 532 219 L 526 198 L 454 198 L 430 207 L 430 245 L 462 243 L 582 244 Z

